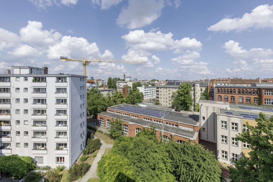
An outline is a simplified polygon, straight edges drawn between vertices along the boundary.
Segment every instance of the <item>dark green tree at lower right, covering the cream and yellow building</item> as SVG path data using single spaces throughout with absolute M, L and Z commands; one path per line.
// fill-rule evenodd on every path
M 251 151 L 249 160 L 241 157 L 235 162 L 235 169 L 229 168 L 234 182 L 272 182 L 273 181 L 273 116 L 266 119 L 265 114 L 259 113 L 255 119 L 257 127 L 247 123 L 249 131 L 243 131 L 237 140 L 247 142 Z

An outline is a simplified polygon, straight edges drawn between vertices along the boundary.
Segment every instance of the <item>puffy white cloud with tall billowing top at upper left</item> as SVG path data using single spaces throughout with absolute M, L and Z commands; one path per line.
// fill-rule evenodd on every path
M 42 22 L 28 21 L 28 25 L 20 30 L 21 41 L 38 47 L 55 45 L 60 41 L 62 34 L 54 29 L 42 30 L 42 27 Z

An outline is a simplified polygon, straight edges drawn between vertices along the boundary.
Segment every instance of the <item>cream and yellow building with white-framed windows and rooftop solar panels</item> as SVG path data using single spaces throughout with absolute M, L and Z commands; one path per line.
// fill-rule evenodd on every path
M 234 164 L 243 155 L 249 157 L 249 145 L 236 140 L 236 135 L 248 130 L 247 122 L 257 126 L 259 112 L 272 116 L 272 107 L 200 101 L 200 139 L 217 143 L 217 159 Z

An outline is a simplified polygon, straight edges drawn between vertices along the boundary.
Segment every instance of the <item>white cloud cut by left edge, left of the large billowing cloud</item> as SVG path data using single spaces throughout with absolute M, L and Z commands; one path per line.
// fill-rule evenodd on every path
M 16 47 L 20 42 L 20 37 L 6 29 L 0 28 L 0 51 L 9 47 Z

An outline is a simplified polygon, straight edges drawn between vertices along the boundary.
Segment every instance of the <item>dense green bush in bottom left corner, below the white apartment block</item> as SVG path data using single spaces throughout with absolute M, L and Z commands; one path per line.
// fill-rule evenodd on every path
M 21 180 L 31 170 L 35 170 L 32 157 L 22 157 L 17 154 L 0 156 L 0 172 L 10 174 L 15 180 Z

